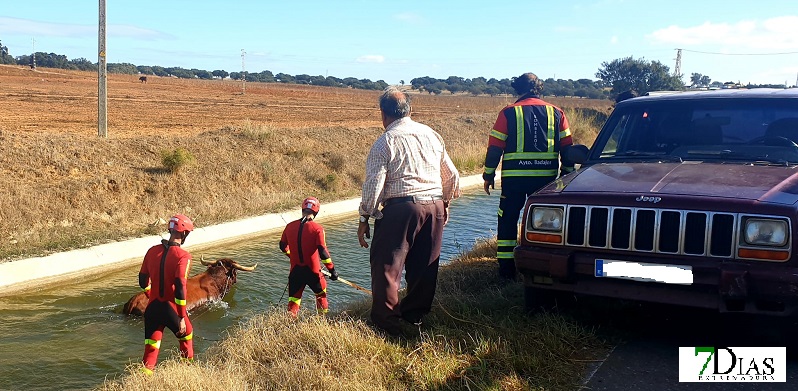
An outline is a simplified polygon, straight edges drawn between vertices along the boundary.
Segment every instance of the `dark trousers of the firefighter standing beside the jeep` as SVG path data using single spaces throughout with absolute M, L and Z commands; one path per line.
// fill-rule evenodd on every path
M 553 179 L 553 177 L 502 178 L 496 228 L 496 260 L 499 262 L 500 277 L 515 278 L 513 249 L 518 244 L 518 218 L 524 209 L 526 198 Z

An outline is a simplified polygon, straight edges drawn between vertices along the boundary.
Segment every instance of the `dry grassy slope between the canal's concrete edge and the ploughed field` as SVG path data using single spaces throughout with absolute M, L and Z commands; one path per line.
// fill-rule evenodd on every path
M 488 120 L 431 122 L 464 174 L 476 173 Z M 0 259 L 162 232 L 161 219 L 178 212 L 208 226 L 294 208 L 308 195 L 322 203 L 356 197 L 381 132 L 246 120 L 168 138 L 0 131 Z

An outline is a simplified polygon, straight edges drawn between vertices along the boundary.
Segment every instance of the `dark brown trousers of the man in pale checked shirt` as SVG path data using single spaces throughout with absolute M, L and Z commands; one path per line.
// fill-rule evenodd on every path
M 443 236 L 443 201 L 401 202 L 382 210 L 371 241 L 371 320 L 390 334 L 400 319 L 418 322 L 432 309 Z M 402 270 L 407 295 L 399 300 Z

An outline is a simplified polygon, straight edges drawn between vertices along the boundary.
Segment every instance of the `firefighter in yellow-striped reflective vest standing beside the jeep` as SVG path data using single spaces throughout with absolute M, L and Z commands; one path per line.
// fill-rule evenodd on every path
M 558 158 L 573 142 L 565 113 L 541 99 L 543 82 L 534 73 L 513 79 L 520 96 L 499 113 L 488 137 L 485 192 L 490 194 L 499 161 L 502 162 L 502 194 L 499 199 L 496 233 L 499 276 L 516 277 L 513 249 L 518 240 L 518 217 L 526 197 L 557 178 L 574 170 L 574 164 Z

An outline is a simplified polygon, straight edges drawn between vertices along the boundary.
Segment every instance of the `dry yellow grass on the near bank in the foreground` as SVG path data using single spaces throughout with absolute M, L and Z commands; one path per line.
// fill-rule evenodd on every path
M 432 313 L 408 338 L 366 325 L 369 302 L 299 319 L 257 315 L 192 364 L 174 352 L 151 377 L 132 365 L 102 390 L 573 390 L 604 349 L 592 330 L 526 314 L 497 277 L 495 241 L 441 269 Z

